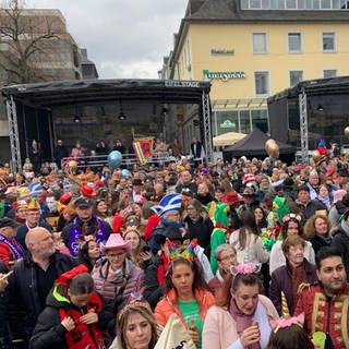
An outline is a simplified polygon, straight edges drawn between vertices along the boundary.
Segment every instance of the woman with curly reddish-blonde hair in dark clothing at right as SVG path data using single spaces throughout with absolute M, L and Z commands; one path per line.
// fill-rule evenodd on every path
M 329 246 L 332 242 L 330 221 L 324 215 L 310 217 L 303 228 L 304 238 L 311 242 L 315 254 L 323 246 Z

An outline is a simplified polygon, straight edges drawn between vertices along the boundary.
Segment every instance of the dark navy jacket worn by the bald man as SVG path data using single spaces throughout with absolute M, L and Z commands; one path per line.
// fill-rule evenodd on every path
M 57 275 L 61 275 L 74 267 L 74 261 L 67 254 L 56 252 L 50 258 L 50 266 L 55 268 Z M 14 273 L 9 279 L 9 306 L 13 314 L 12 318 L 16 320 L 15 324 L 11 324 L 11 329 L 15 338 L 28 340 L 44 310 L 39 300 L 37 281 L 36 264 L 28 254 L 15 265 Z M 48 285 L 49 288 L 52 286 Z

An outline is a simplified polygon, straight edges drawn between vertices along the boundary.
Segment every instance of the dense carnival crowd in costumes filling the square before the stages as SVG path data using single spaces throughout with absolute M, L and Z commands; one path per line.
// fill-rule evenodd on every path
M 349 348 L 348 164 L 1 168 L 0 348 Z

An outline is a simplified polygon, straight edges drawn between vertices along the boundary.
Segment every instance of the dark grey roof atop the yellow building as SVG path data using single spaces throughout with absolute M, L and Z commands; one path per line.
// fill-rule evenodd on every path
M 344 10 L 241 10 L 240 0 L 189 0 L 185 21 L 347 22 Z

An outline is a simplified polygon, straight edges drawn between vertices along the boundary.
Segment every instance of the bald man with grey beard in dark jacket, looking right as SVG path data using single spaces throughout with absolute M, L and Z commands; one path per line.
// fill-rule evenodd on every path
M 9 289 L 14 339 L 27 344 L 55 280 L 70 270 L 74 261 L 55 251 L 52 234 L 43 227 L 28 230 L 25 244 L 28 254 L 15 265 Z

